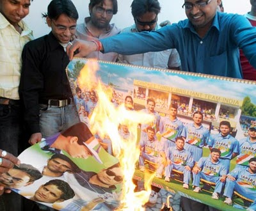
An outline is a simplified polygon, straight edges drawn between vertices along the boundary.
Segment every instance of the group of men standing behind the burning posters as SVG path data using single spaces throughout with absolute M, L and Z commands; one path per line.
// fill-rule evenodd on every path
M 254 0 L 250 2 L 252 6 L 255 5 Z M 106 42 L 99 41 L 101 38 L 112 37 L 120 33 L 120 29 L 116 28 L 115 24 L 109 24 L 113 15 L 117 13 L 116 0 L 91 0 L 89 3 L 90 17 L 86 17 L 84 23 L 79 25 L 77 25 L 78 13 L 72 1 L 51 1 L 47 8 L 47 13 L 44 14 L 47 25 L 51 27 L 51 32 L 49 35 L 42 36 L 36 40 L 33 40 L 32 31 L 22 20 L 29 13 L 31 1 L 1 1 L 0 148 L 8 150 L 8 152 L 17 156 L 26 147 L 24 144 L 26 136 L 29 136 L 29 143 L 33 145 L 39 142 L 42 137 L 52 136 L 52 134 L 65 130 L 79 121 L 67 75 L 65 74 L 65 68 L 69 62 L 68 56 L 72 58 L 76 47 L 79 46 L 79 42 L 76 41 L 73 42 L 72 46 L 68 45 L 68 42 L 72 41 L 75 36 L 82 40 L 93 40 L 93 42 L 90 42 L 90 47 L 87 48 L 86 52 L 83 47 L 79 48 L 77 56 L 116 61 L 118 54 L 142 53 L 143 58 L 149 59 L 142 63 L 141 59 L 138 59 L 140 60 L 140 65 L 154 67 L 159 63 L 155 58 L 166 58 L 166 62 L 161 60 L 161 63 L 164 63 L 164 68 L 181 68 L 191 72 L 242 78 L 241 71 L 235 71 L 237 69 L 240 70 L 240 68 L 236 68 L 238 63 L 237 61 L 233 62 L 237 60 L 234 57 L 238 55 L 236 54 L 237 47 L 241 47 L 244 50 L 244 54 L 250 58 L 252 65 L 255 64 L 252 50 L 255 48 L 248 47 L 248 42 L 246 41 L 250 40 L 253 43 L 250 38 L 255 34 L 255 29 L 252 29 L 241 17 L 237 17 L 236 24 L 238 25 L 235 26 L 236 24 L 234 25 L 234 22 L 229 19 L 231 15 L 216 13 L 216 7 L 220 3 L 220 0 L 200 1 L 199 3 L 194 0 L 184 1 L 183 7 L 188 20 L 186 20 L 186 23 L 180 24 L 180 35 L 179 33 L 173 33 L 173 37 L 182 38 L 183 31 L 188 29 L 189 32 L 193 33 L 193 36 L 188 38 L 185 33 L 186 40 L 190 40 L 190 44 L 187 43 L 187 45 L 184 40 L 183 43 L 180 40 L 172 39 L 167 39 L 166 44 L 159 37 L 156 37 L 158 40 L 154 42 L 153 36 L 150 38 L 148 36 L 150 33 L 143 31 L 152 31 L 158 28 L 156 24 L 157 15 L 160 12 L 159 3 L 157 0 L 134 0 L 132 3 L 132 15 L 134 16 L 135 25 L 131 28 L 131 31 L 129 31 L 130 29 L 124 30 L 124 32 L 129 31 L 132 33 L 122 33 L 123 37 L 120 37 L 120 41 L 118 39 L 110 40 L 111 43 L 118 42 L 128 45 L 118 45 L 121 51 L 120 49 L 107 49 Z M 142 12 L 139 12 L 141 7 Z M 220 25 L 218 23 L 219 20 L 216 18 L 219 16 Z M 230 26 L 233 24 L 234 29 L 239 27 L 239 24 L 244 24 L 244 30 L 248 26 L 246 29 L 248 31 L 245 33 L 248 37 L 245 37 L 244 34 L 243 38 L 242 36 L 234 37 L 230 35 L 232 39 L 230 38 L 229 40 L 235 40 L 236 42 L 225 40 L 228 37 L 226 30 L 228 29 L 228 24 L 221 24 L 224 20 Z M 179 28 L 177 25 L 166 26 L 166 29 L 163 27 L 160 30 L 164 35 L 164 33 L 167 34 L 169 29 L 174 32 L 177 28 Z M 212 42 L 212 38 L 218 36 L 213 28 L 220 30 L 221 35 L 225 34 L 225 38 L 221 36 L 220 40 Z M 211 31 L 209 32 L 210 29 Z M 131 40 L 129 37 L 132 37 L 132 35 L 127 36 L 127 34 L 134 34 L 134 38 L 138 38 L 137 40 L 132 40 L 132 42 L 136 43 L 136 48 L 141 48 L 143 51 L 134 51 L 134 45 L 124 42 L 124 38 Z M 170 33 L 171 35 L 172 33 Z M 237 33 L 237 35 L 240 34 Z M 140 36 L 141 40 L 139 40 Z M 148 41 L 144 40 L 144 38 L 142 39 L 142 36 L 146 36 Z M 209 37 L 211 38 L 210 40 Z M 166 36 L 162 36 L 162 38 L 165 39 Z M 227 45 L 225 44 L 226 42 L 228 43 Z M 25 45 L 26 43 L 28 44 Z M 153 49 L 150 49 L 152 46 L 148 47 L 148 43 L 157 43 L 159 47 L 153 46 Z M 200 45 L 205 43 L 206 46 L 209 46 L 210 43 L 216 43 L 217 46 L 215 47 L 218 48 L 218 52 L 207 47 L 200 47 L 200 50 L 195 51 L 192 45 L 197 46 L 198 43 Z M 188 46 L 190 49 L 188 50 L 184 46 Z M 232 49 L 232 51 L 227 51 L 227 53 L 231 52 L 230 54 L 225 54 L 226 51 L 225 49 L 223 50 L 223 47 L 226 46 Z M 179 54 L 175 49 L 178 50 Z M 211 53 L 206 53 L 205 49 Z M 218 54 L 220 49 L 222 49 L 221 52 L 223 54 Z M 22 52 L 22 50 L 24 51 Z M 110 52 L 112 50 L 117 52 Z M 150 50 L 152 51 L 147 52 Z M 90 54 L 88 54 L 88 51 L 91 51 Z M 103 53 L 103 51 L 108 53 Z M 193 56 L 191 54 L 190 58 L 187 55 L 188 52 L 199 52 L 204 56 Z M 181 65 L 179 56 L 182 59 Z M 122 56 L 119 58 L 122 58 Z M 136 58 L 141 57 L 136 56 Z M 224 61 L 224 58 L 227 58 L 227 61 Z M 122 59 L 119 60 L 122 61 Z M 124 61 L 138 64 L 132 56 L 130 58 L 127 56 Z M 153 63 L 151 63 L 152 61 Z M 215 65 L 211 66 L 212 62 Z M 217 69 L 221 72 L 216 72 Z M 214 71 L 205 72 L 205 70 Z M 26 125 L 26 136 L 22 134 L 24 125 Z M 167 135 L 163 136 L 163 139 L 168 139 Z M 175 140 L 171 139 L 166 143 L 173 145 L 174 142 Z M 10 196 L 4 194 L 4 198 L 8 197 Z M 10 198 L 13 198 L 13 196 Z M 15 199 L 14 201 L 15 203 L 9 202 L 12 207 L 6 206 L 6 210 L 20 210 L 20 203 L 17 203 L 19 200 Z

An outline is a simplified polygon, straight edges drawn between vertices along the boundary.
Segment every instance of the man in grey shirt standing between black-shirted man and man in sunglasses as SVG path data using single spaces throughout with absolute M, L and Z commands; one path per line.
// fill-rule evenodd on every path
M 77 38 L 81 40 L 99 40 L 120 33 L 115 24 L 109 24 L 113 15 L 117 13 L 116 0 L 90 0 L 89 3 L 90 17 L 84 18 L 82 24 L 77 25 Z M 104 61 L 116 61 L 118 54 L 109 52 L 94 51 L 86 56 L 86 58 L 97 58 Z

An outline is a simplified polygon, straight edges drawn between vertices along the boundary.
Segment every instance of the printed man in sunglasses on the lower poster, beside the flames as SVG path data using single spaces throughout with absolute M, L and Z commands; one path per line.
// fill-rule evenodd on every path
M 97 194 L 112 193 L 116 185 L 123 181 L 124 175 L 120 164 L 114 164 L 107 169 L 101 169 L 99 173 L 92 171 L 81 171 L 74 174 L 77 182 Z

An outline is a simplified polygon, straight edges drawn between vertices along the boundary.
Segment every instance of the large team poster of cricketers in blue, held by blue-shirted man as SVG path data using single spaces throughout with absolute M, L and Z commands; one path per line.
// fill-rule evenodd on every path
M 114 107 L 154 116 L 138 123 L 136 180 L 150 171 L 152 185 L 220 210 L 256 209 L 254 82 L 104 61 L 94 72 L 88 63 L 77 58 L 67 68 L 81 121 L 90 122 L 97 107 L 99 82 L 111 88 Z M 89 77 L 84 65 L 96 84 L 77 80 Z M 129 140 L 125 123 L 118 132 Z M 115 156 L 109 134 L 99 140 Z

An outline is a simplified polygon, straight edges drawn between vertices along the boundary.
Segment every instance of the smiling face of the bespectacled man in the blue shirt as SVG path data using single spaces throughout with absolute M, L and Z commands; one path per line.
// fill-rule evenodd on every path
M 208 30 L 211 26 L 212 19 L 216 14 L 217 5 L 220 4 L 221 0 L 210 0 L 209 3 L 201 8 L 197 8 L 193 6 L 190 10 L 186 10 L 186 15 L 190 20 L 191 24 L 198 30 Z M 207 2 L 206 0 L 198 1 L 198 0 L 185 0 L 185 3 L 200 3 L 200 2 Z

